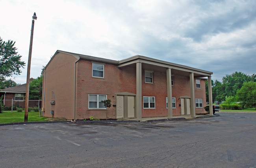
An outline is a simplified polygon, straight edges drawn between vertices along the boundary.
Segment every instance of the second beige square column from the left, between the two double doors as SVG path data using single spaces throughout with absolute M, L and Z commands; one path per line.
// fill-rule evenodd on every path
M 171 119 L 171 118 L 173 118 L 173 95 L 172 95 L 171 68 L 166 69 L 166 75 L 167 75 L 168 119 Z

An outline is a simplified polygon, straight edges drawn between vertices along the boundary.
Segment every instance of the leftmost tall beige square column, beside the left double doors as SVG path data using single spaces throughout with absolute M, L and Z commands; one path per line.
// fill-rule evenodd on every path
M 141 121 L 142 110 L 142 78 L 141 78 L 141 62 L 136 63 L 136 118 Z

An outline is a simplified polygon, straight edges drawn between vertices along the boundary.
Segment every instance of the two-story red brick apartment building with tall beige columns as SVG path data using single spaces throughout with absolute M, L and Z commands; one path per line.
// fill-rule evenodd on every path
M 205 80 L 211 74 L 140 55 L 116 61 L 58 50 L 42 72 L 42 109 L 46 117 L 66 119 L 195 117 L 206 113 Z

